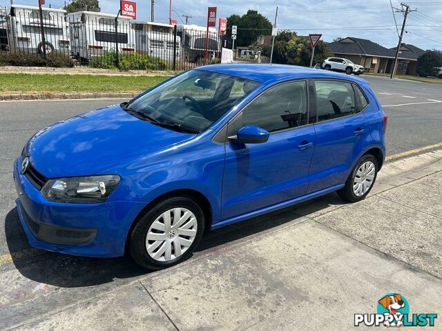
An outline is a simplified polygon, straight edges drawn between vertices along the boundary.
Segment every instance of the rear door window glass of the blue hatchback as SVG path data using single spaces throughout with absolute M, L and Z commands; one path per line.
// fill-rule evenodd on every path
M 352 83 L 315 81 L 318 122 L 337 119 L 357 112 Z

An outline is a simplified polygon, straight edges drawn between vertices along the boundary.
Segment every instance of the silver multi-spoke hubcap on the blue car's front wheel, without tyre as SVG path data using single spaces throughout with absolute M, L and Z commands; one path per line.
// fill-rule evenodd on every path
M 171 261 L 180 257 L 195 240 L 198 223 L 186 208 L 163 212 L 152 223 L 146 235 L 146 250 L 155 261 Z

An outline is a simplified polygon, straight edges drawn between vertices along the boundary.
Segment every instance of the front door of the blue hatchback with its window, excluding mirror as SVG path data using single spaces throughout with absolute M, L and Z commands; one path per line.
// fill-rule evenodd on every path
M 226 145 L 222 221 L 305 194 L 315 139 L 307 103 L 306 81 L 283 83 L 260 94 L 229 123 L 229 131 L 255 125 L 270 137 L 265 143 Z

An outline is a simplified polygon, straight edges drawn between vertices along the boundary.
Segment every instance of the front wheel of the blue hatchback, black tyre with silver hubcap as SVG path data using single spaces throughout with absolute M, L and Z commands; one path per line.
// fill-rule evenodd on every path
M 188 259 L 204 233 L 204 212 L 191 197 L 157 201 L 129 237 L 129 252 L 148 270 L 168 268 Z

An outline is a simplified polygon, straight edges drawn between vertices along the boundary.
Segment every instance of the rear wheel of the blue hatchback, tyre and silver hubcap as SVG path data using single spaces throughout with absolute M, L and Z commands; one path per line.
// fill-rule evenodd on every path
M 365 154 L 354 166 L 344 188 L 338 190 L 341 198 L 356 202 L 367 197 L 378 175 L 378 161 L 372 154 Z

